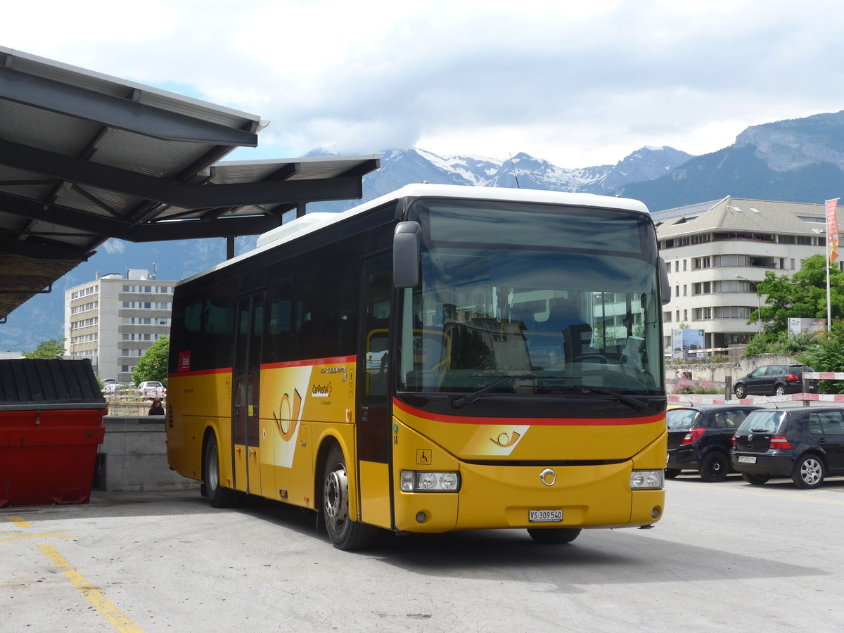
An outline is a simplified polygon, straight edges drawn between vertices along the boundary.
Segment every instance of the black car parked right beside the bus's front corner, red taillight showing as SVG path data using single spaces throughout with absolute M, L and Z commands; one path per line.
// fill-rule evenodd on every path
M 721 481 L 730 469 L 733 434 L 751 411 L 761 407 L 740 404 L 701 404 L 669 408 L 668 466 L 665 476 L 696 470 L 704 481 Z

